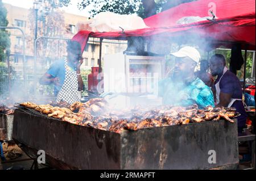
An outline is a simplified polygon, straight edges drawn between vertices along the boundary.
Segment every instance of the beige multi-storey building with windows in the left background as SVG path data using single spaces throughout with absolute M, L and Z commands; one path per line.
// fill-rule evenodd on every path
M 21 7 L 12 6 L 8 3 L 4 3 L 7 9 L 7 19 L 9 20 L 8 26 L 16 26 L 22 28 L 26 37 L 25 37 L 25 46 L 26 46 L 26 63 L 27 66 L 34 64 L 34 44 L 28 41 L 34 40 L 34 32 L 31 31 L 29 19 L 30 10 L 24 9 Z M 65 23 L 65 33 L 63 37 L 67 37 L 71 39 L 73 35 L 77 33 L 76 25 L 77 23 L 85 22 L 87 18 L 85 16 L 69 14 L 63 12 L 64 15 L 64 23 Z M 22 33 L 18 30 L 9 30 L 10 31 L 10 39 L 11 39 L 11 48 L 10 48 L 10 62 L 11 64 L 17 65 L 22 64 L 23 54 L 22 54 Z M 99 49 L 100 43 L 99 39 L 97 38 L 90 38 L 88 45 L 86 46 L 83 57 L 84 65 L 83 68 L 90 69 L 92 66 L 98 65 L 98 58 L 99 58 Z M 94 44 L 93 44 L 94 42 Z M 108 42 L 108 43 L 105 43 Z M 40 43 L 40 42 L 39 42 Z M 61 41 L 61 44 L 64 42 Z M 117 52 L 122 52 L 126 49 L 125 41 L 114 41 L 114 40 L 104 40 L 102 43 L 102 57 L 104 54 L 112 54 Z M 60 55 L 60 57 L 63 54 Z M 46 64 L 48 67 L 49 64 Z

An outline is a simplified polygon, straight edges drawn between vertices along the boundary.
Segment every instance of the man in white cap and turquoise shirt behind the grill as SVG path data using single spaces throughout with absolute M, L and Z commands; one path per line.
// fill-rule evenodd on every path
M 191 106 L 199 108 L 214 107 L 213 93 L 201 79 L 195 76 L 195 68 L 200 60 L 200 53 L 193 47 L 183 47 L 175 56 L 175 68 L 172 76 L 159 83 L 159 95 L 163 104 L 173 106 Z

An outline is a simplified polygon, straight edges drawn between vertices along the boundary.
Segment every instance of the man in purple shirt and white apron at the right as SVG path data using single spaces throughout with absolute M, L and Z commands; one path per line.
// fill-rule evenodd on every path
M 246 123 L 246 112 L 242 102 L 242 87 L 235 74 L 226 68 L 225 57 L 222 54 L 214 54 L 209 61 L 210 71 L 214 82 L 213 92 L 216 98 L 216 107 L 235 107 L 241 115 L 237 117 L 238 132 L 242 132 Z

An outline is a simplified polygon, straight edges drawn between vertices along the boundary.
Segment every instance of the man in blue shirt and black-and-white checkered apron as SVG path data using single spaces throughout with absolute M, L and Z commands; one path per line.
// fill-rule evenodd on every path
M 84 87 L 80 73 L 81 45 L 77 41 L 68 41 L 67 53 L 67 57 L 51 65 L 40 78 L 40 84 L 53 84 L 56 101 L 72 104 L 80 101 L 79 91 Z

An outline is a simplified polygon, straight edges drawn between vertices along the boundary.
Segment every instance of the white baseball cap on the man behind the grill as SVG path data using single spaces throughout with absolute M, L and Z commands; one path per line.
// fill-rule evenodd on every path
M 179 51 L 171 54 L 175 57 L 189 57 L 196 63 L 198 63 L 201 58 L 199 51 L 193 47 L 183 47 Z

